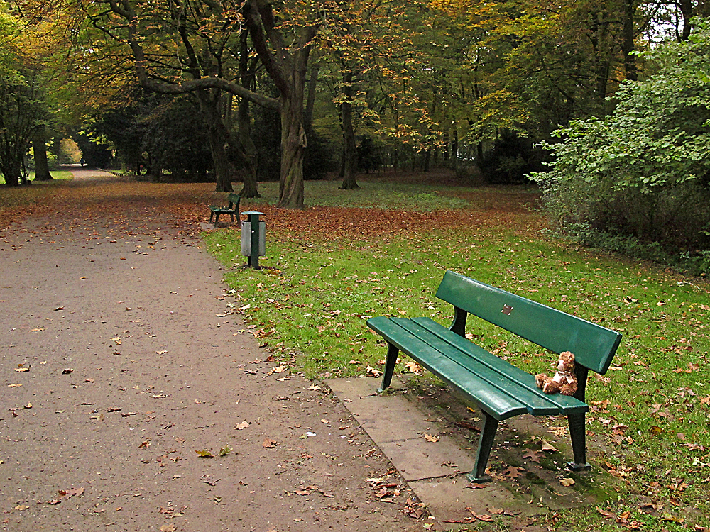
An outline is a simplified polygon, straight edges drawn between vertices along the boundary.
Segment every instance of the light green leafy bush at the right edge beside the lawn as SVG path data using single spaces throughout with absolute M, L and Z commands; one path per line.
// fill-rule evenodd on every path
M 572 121 L 554 133 L 559 143 L 544 145 L 555 157 L 533 178 L 557 228 L 657 243 L 707 265 L 710 21 L 696 22 L 689 40 L 645 54 L 657 74 L 623 84 L 610 116 Z

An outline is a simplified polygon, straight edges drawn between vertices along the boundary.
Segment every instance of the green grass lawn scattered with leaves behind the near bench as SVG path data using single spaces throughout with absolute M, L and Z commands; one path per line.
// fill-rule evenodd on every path
M 386 185 L 363 191 L 357 200 L 346 194 L 322 197 L 340 206 L 463 206 L 461 199 L 449 204 L 432 189 Z M 616 523 L 594 507 L 560 511 L 554 526 L 579 531 L 707 526 L 710 297 L 704 279 L 594 253 L 544 232 L 497 227 L 306 240 L 270 234 L 267 227 L 267 256 L 260 263 L 273 270 L 260 271 L 234 267 L 246 262 L 235 231 L 209 233 L 205 240 L 230 267 L 225 278 L 239 297 L 236 306 L 256 326 L 246 332 L 307 377 L 381 369 L 386 347 L 366 328 L 370 316 L 430 316 L 448 325 L 452 308 L 434 295 L 446 270 L 623 333 L 611 371 L 589 383 L 588 428 L 612 449 L 606 467 L 621 479 L 617 499 L 602 510 L 630 514 Z M 530 373 L 552 371 L 556 356 L 525 340 L 475 318 L 467 332 Z M 406 371 L 404 362 L 397 371 Z M 649 511 L 643 506 L 648 501 L 662 508 Z

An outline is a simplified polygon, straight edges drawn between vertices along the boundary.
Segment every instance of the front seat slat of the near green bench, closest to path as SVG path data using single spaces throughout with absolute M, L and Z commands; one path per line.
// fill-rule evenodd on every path
M 475 375 L 470 370 L 463 370 L 461 365 L 449 358 L 448 355 L 444 355 L 425 340 L 417 338 L 390 318 L 383 316 L 371 318 L 368 320 L 368 326 L 403 353 L 421 362 L 432 373 L 444 381 L 454 384 L 476 406 L 487 411 L 494 418 L 508 419 L 528 411 L 525 404 L 508 394 L 501 394 L 498 387 L 493 386 L 486 379 Z

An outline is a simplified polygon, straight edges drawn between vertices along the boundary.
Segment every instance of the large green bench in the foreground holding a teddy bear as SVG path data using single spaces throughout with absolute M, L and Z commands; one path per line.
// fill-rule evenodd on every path
M 589 370 L 606 373 L 621 334 L 530 299 L 446 272 L 437 297 L 454 305 L 454 321 L 446 328 L 429 318 L 371 318 L 367 325 L 388 343 L 382 392 L 391 382 L 401 350 L 461 392 L 481 409 L 484 426 L 471 482 L 490 480 L 485 475 L 499 421 L 520 414 L 567 416 L 572 438 L 575 471 L 589 470 L 586 463 L 584 391 Z M 535 377 L 506 360 L 466 340 L 467 314 L 473 314 L 553 353 L 572 351 L 579 384 L 574 396 L 546 395 L 535 386 Z

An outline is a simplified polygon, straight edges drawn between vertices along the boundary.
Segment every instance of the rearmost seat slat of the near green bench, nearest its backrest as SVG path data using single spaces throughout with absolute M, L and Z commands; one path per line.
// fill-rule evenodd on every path
M 393 319 L 399 320 L 402 318 Z M 537 384 L 535 384 L 535 377 L 530 375 L 530 373 L 521 370 L 519 367 L 515 367 L 510 364 L 510 362 L 506 362 L 506 360 L 503 360 L 492 353 L 488 353 L 488 351 L 484 348 L 481 348 L 479 345 L 466 340 L 466 338 L 461 338 L 461 336 L 457 333 L 449 331 L 448 328 L 440 325 L 436 321 L 433 321 L 430 318 L 412 318 L 412 321 L 418 326 L 430 331 L 430 333 L 435 336 L 438 336 L 447 344 L 461 350 L 462 353 L 466 353 L 467 356 L 474 356 L 482 365 L 485 365 L 491 370 L 501 373 L 509 379 L 514 380 L 520 384 L 520 387 L 530 390 L 530 392 L 535 394 L 535 396 L 542 397 L 547 403 L 554 404 L 557 409 L 555 414 L 580 414 L 581 412 L 589 411 L 589 406 L 575 397 L 562 394 L 545 394 L 537 387 Z M 534 414 L 536 416 L 549 415 L 542 412 L 538 413 L 534 407 L 530 410 L 530 414 Z

